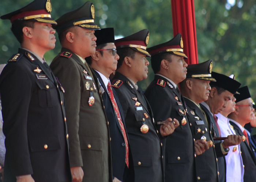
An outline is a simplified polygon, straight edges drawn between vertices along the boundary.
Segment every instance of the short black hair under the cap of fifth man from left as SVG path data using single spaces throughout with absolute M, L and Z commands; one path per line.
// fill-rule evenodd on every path
M 154 74 L 157 74 L 160 71 L 160 65 L 163 59 L 169 62 L 172 61 L 172 59 L 170 59 L 170 55 L 172 54 L 170 54 L 169 52 L 163 52 L 151 57 L 151 67 L 154 71 Z

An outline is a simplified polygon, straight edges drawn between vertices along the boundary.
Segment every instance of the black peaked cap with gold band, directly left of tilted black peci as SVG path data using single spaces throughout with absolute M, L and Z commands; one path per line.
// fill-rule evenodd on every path
M 197 78 L 201 80 L 216 81 L 211 76 L 212 60 L 198 64 L 189 64 L 187 67 L 187 78 Z

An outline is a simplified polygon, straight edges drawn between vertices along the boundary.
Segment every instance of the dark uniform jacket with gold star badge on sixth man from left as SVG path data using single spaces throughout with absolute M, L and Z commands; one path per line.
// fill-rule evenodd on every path
M 184 98 L 187 105 L 188 119 L 191 123 L 191 129 L 193 136 L 196 140 L 201 139 L 203 136 L 206 137 L 206 141 L 213 141 L 212 135 L 210 134 L 210 127 L 203 112 L 200 110 L 195 103 L 191 100 Z M 218 165 L 216 160 L 216 154 L 214 147 L 206 150 L 203 154 L 196 156 L 196 174 L 199 181 L 217 182 L 218 179 Z

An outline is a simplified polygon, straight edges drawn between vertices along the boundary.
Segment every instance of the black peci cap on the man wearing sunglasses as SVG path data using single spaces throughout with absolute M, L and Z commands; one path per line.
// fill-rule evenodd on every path
M 96 30 L 94 35 L 97 37 L 97 46 L 115 42 L 114 28 L 103 28 L 101 30 Z

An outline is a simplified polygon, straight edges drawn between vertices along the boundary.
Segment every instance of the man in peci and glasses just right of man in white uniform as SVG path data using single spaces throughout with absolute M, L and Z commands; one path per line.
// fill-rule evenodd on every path
M 240 143 L 241 155 L 244 164 L 244 181 L 256 181 L 256 159 L 252 150 L 252 144 L 248 139 L 248 134 L 244 129 L 244 125 L 253 120 L 252 99 L 247 86 L 238 89 L 240 94 L 236 97 L 235 111 L 229 115 L 229 122 L 234 127 L 237 135 L 245 136 L 244 142 Z

